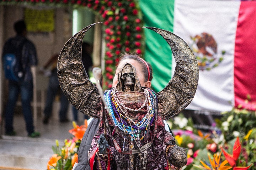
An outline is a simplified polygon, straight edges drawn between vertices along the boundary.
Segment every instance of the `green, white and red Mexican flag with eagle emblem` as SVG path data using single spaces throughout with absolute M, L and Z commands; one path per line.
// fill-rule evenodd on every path
M 191 47 L 199 66 L 196 95 L 186 109 L 256 110 L 256 1 L 140 0 L 145 26 L 169 30 Z M 171 79 L 175 61 L 167 42 L 151 30 L 145 60 L 153 66 L 153 90 Z

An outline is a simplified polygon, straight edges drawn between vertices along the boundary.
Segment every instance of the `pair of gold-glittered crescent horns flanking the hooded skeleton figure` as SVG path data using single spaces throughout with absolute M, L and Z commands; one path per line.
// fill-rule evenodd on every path
M 68 100 L 80 112 L 100 118 L 101 98 L 82 65 L 82 39 L 91 24 L 72 36 L 64 45 L 58 60 L 58 78 Z M 199 70 L 196 58 L 187 43 L 163 29 L 144 27 L 160 34 L 170 45 L 176 61 L 174 76 L 166 87 L 156 94 L 163 119 L 169 119 L 187 107 L 196 93 Z M 171 55 L 171 54 L 170 54 Z

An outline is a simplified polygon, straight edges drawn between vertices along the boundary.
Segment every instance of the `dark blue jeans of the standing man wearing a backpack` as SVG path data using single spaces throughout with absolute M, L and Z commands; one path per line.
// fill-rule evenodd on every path
M 18 94 L 21 93 L 22 112 L 26 122 L 28 134 L 34 132 L 33 115 L 30 102 L 33 96 L 33 82 L 9 81 L 9 98 L 5 109 L 5 131 L 13 131 L 14 108 L 17 102 Z

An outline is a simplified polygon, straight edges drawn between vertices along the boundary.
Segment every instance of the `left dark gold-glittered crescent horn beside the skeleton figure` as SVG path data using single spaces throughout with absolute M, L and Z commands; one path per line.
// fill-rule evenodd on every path
M 98 22 L 100 23 L 100 22 Z M 58 78 L 66 98 L 80 112 L 99 119 L 101 98 L 82 64 L 82 39 L 91 24 L 72 36 L 64 45 L 58 60 Z

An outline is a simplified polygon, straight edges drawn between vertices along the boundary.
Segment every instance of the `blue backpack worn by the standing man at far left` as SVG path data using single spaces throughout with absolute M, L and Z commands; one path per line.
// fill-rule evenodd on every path
M 6 79 L 13 81 L 21 81 L 23 79 L 22 48 L 24 44 L 25 41 L 22 41 L 17 46 L 14 39 L 10 39 L 6 42 L 2 56 Z

